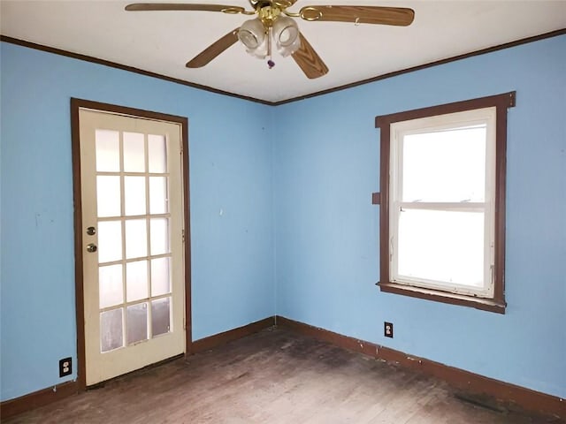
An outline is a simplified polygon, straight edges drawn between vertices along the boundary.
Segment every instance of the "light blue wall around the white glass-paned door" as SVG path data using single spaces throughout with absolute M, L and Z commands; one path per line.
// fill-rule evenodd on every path
M 2 400 L 76 363 L 71 97 L 188 117 L 194 339 L 273 314 L 267 107 L 0 45 Z

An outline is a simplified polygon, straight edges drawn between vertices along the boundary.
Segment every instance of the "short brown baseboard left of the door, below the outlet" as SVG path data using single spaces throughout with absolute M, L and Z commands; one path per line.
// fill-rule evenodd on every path
M 79 392 L 78 382 L 62 382 L 49 389 L 34 391 L 20 398 L 0 403 L 0 418 L 8 418 L 25 413 L 40 406 L 49 405 L 59 399 L 68 398 Z

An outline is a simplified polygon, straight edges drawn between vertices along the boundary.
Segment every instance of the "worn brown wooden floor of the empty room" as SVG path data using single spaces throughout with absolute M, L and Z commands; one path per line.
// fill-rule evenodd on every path
M 494 408 L 497 409 L 497 408 Z M 526 424 L 551 417 L 463 401 L 445 382 L 267 329 L 23 413 L 16 423 Z

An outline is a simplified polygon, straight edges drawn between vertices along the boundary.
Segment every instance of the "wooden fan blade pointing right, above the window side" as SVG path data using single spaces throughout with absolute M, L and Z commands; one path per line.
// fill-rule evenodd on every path
M 354 22 L 407 27 L 415 19 L 415 11 L 405 7 L 382 6 L 305 6 L 302 19 L 310 21 Z

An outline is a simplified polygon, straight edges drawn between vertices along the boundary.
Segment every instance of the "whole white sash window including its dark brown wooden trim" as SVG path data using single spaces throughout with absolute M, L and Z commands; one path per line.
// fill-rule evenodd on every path
M 376 117 L 380 282 L 505 312 L 505 151 L 515 93 Z

